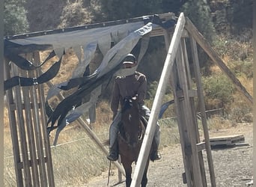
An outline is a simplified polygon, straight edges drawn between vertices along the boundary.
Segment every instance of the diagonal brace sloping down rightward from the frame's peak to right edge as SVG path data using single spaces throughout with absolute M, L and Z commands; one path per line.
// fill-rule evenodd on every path
M 198 29 L 195 28 L 195 25 L 193 25 L 190 19 L 187 17 L 185 27 L 186 30 L 189 31 L 189 34 L 191 34 L 192 37 L 194 37 L 194 39 L 196 40 L 196 42 L 201 46 L 201 48 L 204 49 L 204 52 L 206 52 L 207 55 L 209 55 L 209 57 L 213 60 L 213 62 L 215 62 L 220 67 L 222 72 L 225 73 L 231 79 L 231 81 L 238 88 L 238 90 L 246 96 L 246 99 L 253 103 L 253 99 L 250 93 L 246 91 L 246 88 L 244 88 L 239 79 L 237 79 L 237 77 L 234 76 L 234 73 L 232 73 L 231 70 L 228 69 L 228 67 L 225 65 L 222 59 L 219 58 L 219 55 L 210 46 L 210 43 L 207 42 L 207 40 L 198 31 Z

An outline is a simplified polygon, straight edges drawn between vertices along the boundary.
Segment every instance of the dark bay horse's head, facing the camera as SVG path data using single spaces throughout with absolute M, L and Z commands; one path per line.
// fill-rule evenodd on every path
M 137 97 L 124 98 L 122 108 L 122 123 L 124 128 L 124 138 L 127 143 L 135 147 L 141 135 L 140 114 Z

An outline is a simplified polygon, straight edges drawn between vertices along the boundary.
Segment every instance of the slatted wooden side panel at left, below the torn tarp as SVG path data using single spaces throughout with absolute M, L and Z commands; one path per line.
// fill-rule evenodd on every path
M 40 61 L 39 53 L 27 54 L 28 59 Z M 5 79 L 14 75 L 39 76 L 39 70 L 19 70 L 4 59 Z M 10 134 L 17 186 L 55 186 L 43 85 L 16 86 L 7 91 Z

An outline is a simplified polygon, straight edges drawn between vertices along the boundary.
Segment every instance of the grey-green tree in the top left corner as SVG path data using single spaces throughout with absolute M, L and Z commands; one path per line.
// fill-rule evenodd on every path
M 4 35 L 28 31 L 27 11 L 24 0 L 4 0 Z

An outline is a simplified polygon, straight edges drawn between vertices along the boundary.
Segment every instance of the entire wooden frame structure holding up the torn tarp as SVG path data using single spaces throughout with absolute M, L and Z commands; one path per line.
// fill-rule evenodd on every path
M 160 14 L 161 19 L 173 17 L 173 13 Z M 137 18 L 138 19 L 138 18 Z M 132 20 L 132 19 L 131 19 Z M 112 24 L 121 24 L 112 22 Z M 102 24 L 104 25 L 104 23 Z M 105 24 L 106 25 L 106 24 Z M 93 25 L 91 25 L 93 26 Z M 99 26 L 99 25 L 94 25 Z M 90 28 L 90 27 L 88 27 Z M 37 33 L 39 34 L 39 33 Z M 42 34 L 45 34 L 43 32 Z M 172 37 L 171 37 L 172 35 Z M 180 143 L 183 151 L 183 162 L 185 168 L 184 181 L 187 186 L 207 186 L 206 174 L 204 170 L 204 161 L 202 150 L 207 150 L 207 161 L 210 169 L 210 180 L 212 186 L 216 186 L 213 161 L 210 150 L 209 135 L 206 123 L 206 114 L 204 108 L 204 97 L 201 87 L 201 75 L 198 63 L 197 43 L 207 52 L 216 64 L 221 67 L 223 72 L 231 78 L 237 88 L 252 101 L 252 96 L 243 88 L 243 85 L 234 77 L 233 73 L 216 55 L 210 45 L 204 40 L 204 37 L 197 31 L 192 22 L 180 14 L 174 33 L 163 28 L 156 28 L 150 32 L 150 37 L 164 36 L 168 55 L 165 60 L 165 67 L 159 81 L 153 108 L 147 126 L 146 136 L 144 138 L 141 153 L 132 177 L 132 186 L 139 186 L 144 171 L 144 156 L 148 156 L 147 147 L 153 140 L 153 129 L 156 123 L 162 98 L 165 94 L 167 79 L 171 74 L 172 88 L 174 90 L 175 107 L 177 108 L 178 125 L 180 132 Z M 171 40 L 172 38 L 172 40 Z M 186 39 L 190 39 L 192 50 L 192 64 L 195 69 L 195 80 L 197 90 L 192 90 L 192 79 L 190 77 L 189 61 L 186 49 Z M 27 54 L 31 61 L 40 61 L 39 52 Z M 176 61 L 175 61 L 176 59 Z M 175 68 L 174 68 L 175 67 Z M 40 70 L 26 72 L 17 67 L 9 66 L 7 59 L 4 63 L 4 77 L 9 79 L 11 76 L 39 76 Z M 48 82 L 47 85 L 52 85 Z M 177 86 L 179 85 L 179 86 Z M 205 142 L 200 142 L 198 135 L 198 124 L 196 120 L 196 111 L 193 97 L 198 96 L 200 103 L 202 123 L 204 126 Z M 59 95 L 61 99 L 64 97 Z M 46 111 L 44 108 L 43 85 L 33 85 L 31 87 L 19 87 L 7 91 L 8 113 L 10 118 L 10 130 L 13 141 L 13 156 L 16 170 L 17 186 L 55 186 L 52 170 L 51 150 L 49 146 L 49 137 L 46 133 Z M 95 143 L 108 153 L 106 147 L 97 138 L 97 135 L 89 128 L 88 123 L 82 118 L 78 120 L 82 128 L 88 132 L 88 135 Z M 124 169 L 118 162 L 114 162 L 121 174 Z

